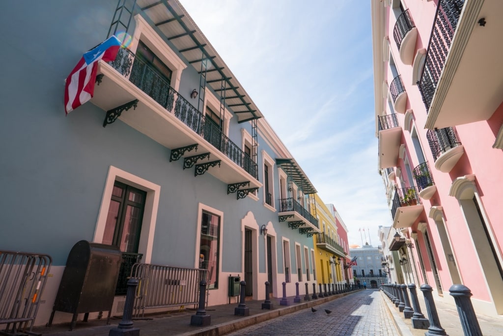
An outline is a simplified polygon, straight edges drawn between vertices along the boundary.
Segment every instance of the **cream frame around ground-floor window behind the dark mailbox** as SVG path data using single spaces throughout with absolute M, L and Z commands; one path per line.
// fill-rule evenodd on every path
M 138 244 L 138 253 L 143 254 L 141 259 L 142 262 L 149 263 L 152 258 L 155 223 L 157 221 L 157 209 L 159 208 L 160 185 L 147 181 L 139 176 L 133 175 L 114 166 L 110 166 L 108 170 L 93 242 L 103 242 L 103 235 L 105 233 L 105 226 L 107 224 L 110 200 L 112 198 L 115 181 L 133 186 L 137 189 L 146 191 L 147 193 L 140 231 L 140 241 Z

